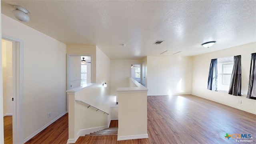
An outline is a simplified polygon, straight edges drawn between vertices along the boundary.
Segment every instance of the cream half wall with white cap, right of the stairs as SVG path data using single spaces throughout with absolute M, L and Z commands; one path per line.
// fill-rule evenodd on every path
M 147 91 L 133 78 L 130 86 L 118 88 L 118 136 L 117 140 L 148 138 Z

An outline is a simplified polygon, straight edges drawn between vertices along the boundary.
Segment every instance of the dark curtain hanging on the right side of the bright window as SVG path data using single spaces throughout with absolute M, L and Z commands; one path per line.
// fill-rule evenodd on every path
M 234 96 L 241 96 L 241 55 L 234 56 L 234 66 L 228 94 L 232 94 Z

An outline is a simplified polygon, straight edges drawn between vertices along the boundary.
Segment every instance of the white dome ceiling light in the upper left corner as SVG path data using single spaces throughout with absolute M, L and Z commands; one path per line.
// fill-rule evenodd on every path
M 15 10 L 12 11 L 12 14 L 15 18 L 22 22 L 29 22 L 30 18 L 28 16 L 28 10 L 17 5 L 14 5 L 13 7 L 15 8 Z

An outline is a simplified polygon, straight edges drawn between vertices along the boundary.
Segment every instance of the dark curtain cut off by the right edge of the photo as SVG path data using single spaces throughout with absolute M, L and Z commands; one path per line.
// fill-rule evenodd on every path
M 250 78 L 249 78 L 249 87 L 248 87 L 248 92 L 246 98 L 251 98 L 256 100 L 256 53 L 252 54 L 252 59 L 251 59 L 251 68 L 250 68 Z

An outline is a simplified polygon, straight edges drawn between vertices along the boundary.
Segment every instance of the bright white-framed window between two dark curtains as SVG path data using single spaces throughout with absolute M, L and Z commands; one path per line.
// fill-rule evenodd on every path
M 231 74 L 234 66 L 234 57 L 218 58 L 218 90 L 228 91 Z

